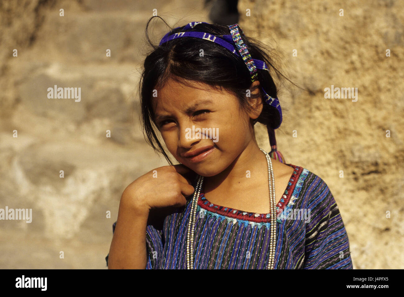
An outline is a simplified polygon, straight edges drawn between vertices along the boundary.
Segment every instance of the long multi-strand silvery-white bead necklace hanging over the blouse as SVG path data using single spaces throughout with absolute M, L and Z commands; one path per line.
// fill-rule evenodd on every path
M 269 185 L 269 200 L 271 204 L 271 229 L 269 238 L 269 261 L 267 269 L 274 269 L 275 263 L 275 248 L 276 248 L 276 208 L 275 208 L 275 179 L 274 170 L 272 168 L 272 161 L 269 154 L 267 154 L 263 149 L 261 152 L 265 154 L 267 158 L 268 165 L 268 185 Z M 194 233 L 195 233 L 195 223 L 196 222 L 196 208 L 198 204 L 198 197 L 202 189 L 203 176 L 199 176 L 198 183 L 196 184 L 196 189 L 194 192 L 194 198 L 191 201 L 191 212 L 188 223 L 188 234 L 187 234 L 187 269 L 194 269 Z M 192 228 L 192 230 L 191 230 Z M 189 236 L 190 235 L 190 236 Z

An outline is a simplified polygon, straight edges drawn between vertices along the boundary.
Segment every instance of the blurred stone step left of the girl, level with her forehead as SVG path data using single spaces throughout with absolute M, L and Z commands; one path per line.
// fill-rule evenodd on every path
M 138 65 L 112 63 L 83 67 L 48 62 L 38 67 L 38 63 L 16 63 L 11 67 L 13 75 L 21 77 L 17 84 L 19 100 L 32 114 L 73 124 L 105 118 L 129 126 L 133 126 L 133 116 L 140 115 L 137 96 L 140 74 L 133 70 Z M 63 98 L 50 91 L 55 85 L 57 92 L 63 88 Z M 71 96 L 72 90 L 77 92 L 76 97 Z M 53 98 L 48 98 L 50 95 Z

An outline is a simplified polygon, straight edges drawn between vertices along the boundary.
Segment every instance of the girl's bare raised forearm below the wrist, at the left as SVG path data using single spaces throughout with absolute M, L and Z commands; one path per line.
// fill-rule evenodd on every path
M 125 198 L 119 204 L 118 220 L 109 249 L 109 269 L 145 269 L 146 228 L 149 209 L 133 207 Z

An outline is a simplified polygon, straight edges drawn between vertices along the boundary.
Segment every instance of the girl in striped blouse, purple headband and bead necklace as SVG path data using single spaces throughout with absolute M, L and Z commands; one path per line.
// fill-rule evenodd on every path
M 171 166 L 124 190 L 109 268 L 352 269 L 330 189 L 276 150 L 282 110 L 259 43 L 238 24 L 191 22 L 152 46 L 143 125 Z M 269 154 L 256 122 L 267 126 Z

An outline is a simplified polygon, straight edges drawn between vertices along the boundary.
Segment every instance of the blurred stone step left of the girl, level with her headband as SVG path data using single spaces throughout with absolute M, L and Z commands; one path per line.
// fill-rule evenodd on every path
M 140 55 L 144 46 L 144 27 L 150 13 L 71 13 L 64 17 L 48 15 L 42 25 L 36 44 L 46 44 L 37 50 L 37 58 L 65 63 L 135 63 L 143 59 Z M 157 22 L 156 22 L 157 23 Z M 162 22 L 155 28 L 162 29 Z M 154 26 L 153 26 L 154 27 Z M 107 57 L 107 49 L 110 57 Z

